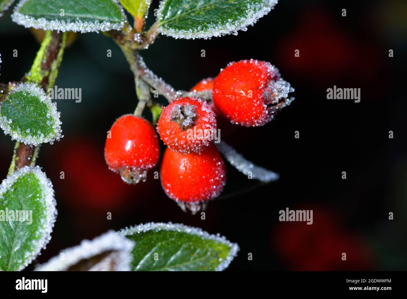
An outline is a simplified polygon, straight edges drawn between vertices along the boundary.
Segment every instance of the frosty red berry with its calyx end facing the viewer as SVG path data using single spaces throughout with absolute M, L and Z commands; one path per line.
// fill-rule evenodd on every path
M 157 131 L 164 144 L 183 154 L 199 153 L 210 144 L 216 130 L 215 115 L 198 98 L 178 98 L 162 110 Z

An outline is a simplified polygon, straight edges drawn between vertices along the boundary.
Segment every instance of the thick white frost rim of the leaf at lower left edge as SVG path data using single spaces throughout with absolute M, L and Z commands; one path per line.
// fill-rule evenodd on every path
M 37 255 L 40 254 L 41 249 L 44 249 L 46 244 L 48 244 L 48 242 L 51 240 L 51 233 L 58 214 L 56 209 L 57 202 L 54 198 L 53 185 L 46 177 L 45 173 L 41 171 L 39 166 L 24 166 L 20 170 L 17 170 L 9 175 L 7 179 L 4 179 L 0 185 L 0 200 L 2 200 L 4 192 L 6 192 L 8 188 L 11 188 L 19 177 L 26 175 L 27 173 L 33 173 L 43 187 L 42 195 L 46 203 L 46 219 L 44 223 L 42 223 L 42 225 L 44 225 L 42 231 L 38 232 L 38 234 L 42 233 L 42 237 L 39 240 L 34 241 L 35 246 L 33 252 L 26 253 L 26 260 L 20 266 L 19 271 L 28 266 L 37 257 Z

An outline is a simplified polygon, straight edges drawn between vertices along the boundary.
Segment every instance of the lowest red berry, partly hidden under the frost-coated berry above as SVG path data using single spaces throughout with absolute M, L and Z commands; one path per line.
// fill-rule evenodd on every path
M 193 214 L 201 203 L 214 199 L 223 190 L 226 168 L 217 148 L 210 144 L 201 153 L 181 153 L 166 149 L 161 164 L 161 185 L 167 196 Z

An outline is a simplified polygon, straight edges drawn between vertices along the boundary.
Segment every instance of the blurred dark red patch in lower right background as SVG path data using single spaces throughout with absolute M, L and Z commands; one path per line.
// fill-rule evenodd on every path
M 313 210 L 313 224 L 280 222 L 273 231 L 276 252 L 289 270 L 373 270 L 368 245 L 360 236 L 344 231 L 329 210 L 322 207 L 310 210 Z M 346 260 L 342 260 L 342 253 L 346 253 Z

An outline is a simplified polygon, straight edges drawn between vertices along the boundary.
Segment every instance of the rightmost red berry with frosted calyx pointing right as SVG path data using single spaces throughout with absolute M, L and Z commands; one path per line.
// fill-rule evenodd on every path
M 229 121 L 246 127 L 262 126 L 291 102 L 294 89 L 280 78 L 278 69 L 266 61 L 241 60 L 221 70 L 212 98 Z

